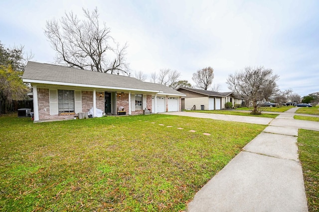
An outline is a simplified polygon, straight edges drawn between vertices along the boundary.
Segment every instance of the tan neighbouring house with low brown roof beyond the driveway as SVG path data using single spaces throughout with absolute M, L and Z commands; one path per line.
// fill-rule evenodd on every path
M 182 110 L 189 110 L 195 106 L 196 110 L 221 110 L 225 108 L 226 102 L 242 104 L 242 99 L 235 98 L 233 92 L 215 92 L 210 90 L 201 90 L 195 88 L 179 87 L 179 92 L 185 94 L 181 99 Z

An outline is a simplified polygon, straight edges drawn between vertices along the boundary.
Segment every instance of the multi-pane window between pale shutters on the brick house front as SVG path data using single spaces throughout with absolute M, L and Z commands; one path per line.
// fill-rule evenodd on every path
M 74 90 L 58 90 L 59 113 L 74 113 Z

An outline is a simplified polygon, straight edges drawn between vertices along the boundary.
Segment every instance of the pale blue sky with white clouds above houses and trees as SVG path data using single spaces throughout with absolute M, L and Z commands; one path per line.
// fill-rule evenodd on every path
M 0 41 L 53 63 L 46 20 L 71 10 L 81 17 L 82 7 L 97 7 L 116 41 L 128 43 L 132 72 L 169 68 L 194 84 L 192 73 L 210 66 L 213 84 L 228 91 L 230 73 L 264 66 L 281 90 L 319 92 L 319 0 L 0 0 Z

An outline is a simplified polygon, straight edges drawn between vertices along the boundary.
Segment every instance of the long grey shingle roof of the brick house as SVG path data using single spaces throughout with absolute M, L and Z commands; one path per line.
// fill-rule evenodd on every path
M 54 84 L 71 83 L 89 85 L 90 87 L 105 86 L 123 88 L 126 90 L 150 90 L 183 96 L 184 94 L 162 84 L 143 82 L 134 77 L 87 71 L 57 65 L 42 64 L 29 61 L 25 67 L 22 79 L 24 82 Z

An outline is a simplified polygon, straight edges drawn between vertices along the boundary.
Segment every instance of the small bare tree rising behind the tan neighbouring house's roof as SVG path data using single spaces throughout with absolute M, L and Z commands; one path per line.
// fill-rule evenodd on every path
M 196 73 L 193 73 L 193 77 L 191 79 L 196 83 L 197 87 L 207 90 L 213 82 L 214 70 L 211 67 L 203 68 L 196 71 Z

